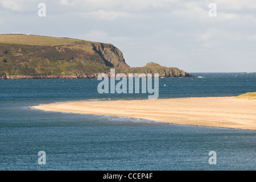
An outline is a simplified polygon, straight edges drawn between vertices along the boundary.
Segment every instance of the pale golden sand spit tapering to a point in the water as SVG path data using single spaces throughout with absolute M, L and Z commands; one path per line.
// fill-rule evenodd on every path
M 182 125 L 256 130 L 256 100 L 234 97 L 64 102 L 33 106 L 44 111 L 111 115 Z

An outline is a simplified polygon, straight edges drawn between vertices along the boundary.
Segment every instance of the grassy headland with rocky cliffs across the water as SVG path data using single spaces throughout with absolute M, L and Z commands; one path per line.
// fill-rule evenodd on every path
M 100 73 L 160 73 L 191 77 L 177 68 L 149 63 L 130 68 L 112 44 L 49 36 L 0 35 L 0 78 L 96 78 Z

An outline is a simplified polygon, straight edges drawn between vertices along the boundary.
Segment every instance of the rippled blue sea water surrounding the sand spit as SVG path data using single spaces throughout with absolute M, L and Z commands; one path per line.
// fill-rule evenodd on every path
M 159 78 L 159 98 L 256 91 L 256 73 L 192 74 L 199 77 Z M 54 102 L 148 97 L 99 94 L 99 82 L 0 80 L 0 170 L 256 170 L 256 131 L 31 109 Z M 46 153 L 46 164 L 39 164 L 39 151 Z M 216 164 L 209 163 L 210 151 L 216 152 Z

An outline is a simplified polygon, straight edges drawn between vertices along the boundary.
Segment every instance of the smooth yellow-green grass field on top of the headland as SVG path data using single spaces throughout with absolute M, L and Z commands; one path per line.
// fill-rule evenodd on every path
M 0 43 L 7 44 L 26 44 L 36 46 L 61 46 L 80 42 L 78 39 L 52 38 L 49 36 L 22 35 L 22 34 L 3 34 L 0 35 Z

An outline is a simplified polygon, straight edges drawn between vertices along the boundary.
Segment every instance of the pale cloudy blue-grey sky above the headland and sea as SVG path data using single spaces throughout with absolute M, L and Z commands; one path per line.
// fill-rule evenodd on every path
M 0 27 L 111 43 L 130 67 L 256 72 L 255 0 L 0 0 Z

